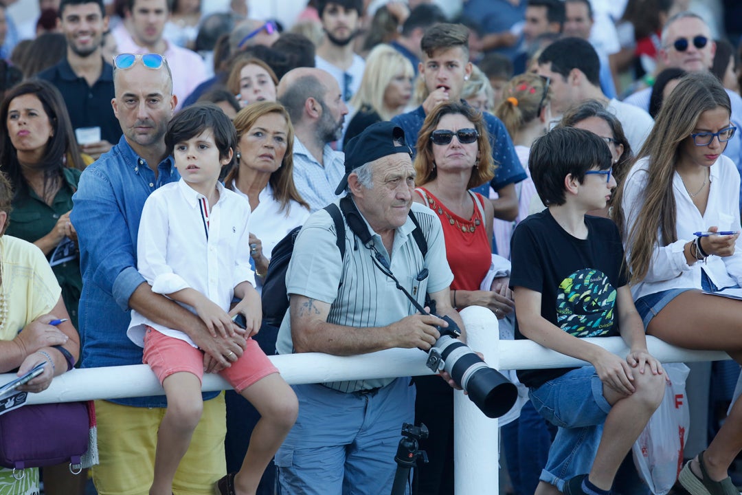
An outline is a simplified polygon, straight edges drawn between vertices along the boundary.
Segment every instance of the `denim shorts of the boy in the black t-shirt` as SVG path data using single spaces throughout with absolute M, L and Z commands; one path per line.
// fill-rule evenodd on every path
M 590 471 L 611 404 L 595 368 L 585 366 L 528 393 L 533 407 L 559 429 L 539 479 L 563 491 L 564 482 Z

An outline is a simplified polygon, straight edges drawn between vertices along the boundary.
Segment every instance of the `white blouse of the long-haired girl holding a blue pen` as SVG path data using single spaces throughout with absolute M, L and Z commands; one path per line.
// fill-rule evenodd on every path
M 631 227 L 637 222 L 637 215 L 643 204 L 649 177 L 648 167 L 649 159 L 644 157 L 631 167 L 626 176 L 622 206 L 628 232 L 631 232 Z M 700 289 L 702 268 L 719 288 L 735 284 L 742 286 L 742 238 L 737 239 L 735 254 L 732 256 L 709 256 L 706 263 L 686 263 L 683 249 L 686 243 L 695 239 L 694 232 L 706 231 L 711 226 L 718 226 L 720 231 L 740 230 L 740 174 L 737 167 L 732 160 L 722 155 L 711 166 L 709 176 L 709 200 L 706 203 L 706 212 L 701 215 L 686 191 L 680 174 L 674 172 L 672 189 L 677 214 L 677 240 L 669 246 L 655 247 L 646 278 L 631 287 L 635 300 L 668 289 Z

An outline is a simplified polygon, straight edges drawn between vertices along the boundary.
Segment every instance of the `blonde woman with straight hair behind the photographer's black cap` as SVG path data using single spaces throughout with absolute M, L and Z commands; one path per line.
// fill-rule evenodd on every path
M 401 114 L 413 95 L 414 76 L 413 65 L 393 47 L 378 45 L 371 50 L 361 87 L 350 100 L 358 111 L 350 119 L 343 145 L 369 125 Z

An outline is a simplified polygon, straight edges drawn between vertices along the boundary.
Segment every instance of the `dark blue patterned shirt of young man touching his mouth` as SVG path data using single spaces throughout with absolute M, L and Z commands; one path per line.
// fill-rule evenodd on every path
M 515 152 L 513 141 L 510 140 L 510 135 L 505 130 L 505 125 L 502 125 L 500 119 L 493 114 L 484 112 L 483 115 L 487 123 L 487 131 L 490 133 L 492 157 L 497 165 L 495 177 L 490 181 L 490 186 L 495 191 L 498 191 L 508 186 L 508 184 L 519 183 L 525 179 L 526 175 Z M 404 130 L 404 140 L 412 148 L 413 154 L 417 153 L 417 138 L 424 120 L 425 111 L 422 109 L 422 105 L 411 112 L 407 112 L 407 114 L 401 114 L 392 119 L 392 122 Z M 479 191 L 479 189 L 476 190 Z M 485 191 L 482 194 L 488 197 L 489 191 Z

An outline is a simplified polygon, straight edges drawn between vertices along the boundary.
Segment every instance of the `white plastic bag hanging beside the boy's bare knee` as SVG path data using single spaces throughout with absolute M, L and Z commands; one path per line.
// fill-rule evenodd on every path
M 683 468 L 683 449 L 690 426 L 686 397 L 689 367 L 669 363 L 663 368 L 670 378 L 665 397 L 631 448 L 639 475 L 656 495 L 667 494 Z

